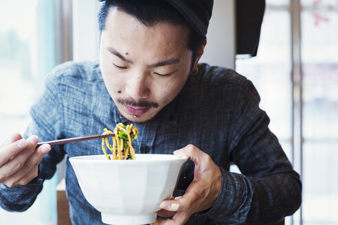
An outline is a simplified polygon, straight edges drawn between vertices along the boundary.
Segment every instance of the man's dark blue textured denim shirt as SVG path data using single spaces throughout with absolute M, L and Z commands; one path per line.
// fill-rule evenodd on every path
M 301 203 L 302 185 L 278 139 L 268 128 L 269 117 L 258 106 L 253 84 L 231 69 L 199 64 L 181 93 L 146 123 L 134 123 L 137 154 L 172 154 L 193 144 L 209 154 L 221 169 L 222 187 L 212 208 L 196 213 L 187 224 L 252 224 L 275 222 L 293 214 Z M 40 141 L 99 134 L 120 115 L 95 62 L 66 62 L 46 79 L 45 91 L 31 109 L 25 137 Z M 53 146 L 43 158 L 38 177 L 28 185 L 0 184 L 0 205 L 25 211 L 52 178 L 66 156 L 66 191 L 73 224 L 103 224 L 84 198 L 69 157 L 102 154 L 101 140 Z M 229 172 L 235 163 L 241 174 Z M 104 171 L 102 171 L 104 173 Z M 109 174 L 107 174 L 109 175 Z M 183 195 L 194 178 L 194 163 L 185 163 L 174 196 Z M 137 188 L 137 187 L 135 187 Z

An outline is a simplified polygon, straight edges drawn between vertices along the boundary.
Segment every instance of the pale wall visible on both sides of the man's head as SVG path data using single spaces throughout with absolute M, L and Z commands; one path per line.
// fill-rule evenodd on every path
M 99 1 L 73 0 L 74 60 L 98 60 Z M 207 46 L 200 62 L 235 67 L 235 0 L 214 0 L 214 10 L 207 33 Z

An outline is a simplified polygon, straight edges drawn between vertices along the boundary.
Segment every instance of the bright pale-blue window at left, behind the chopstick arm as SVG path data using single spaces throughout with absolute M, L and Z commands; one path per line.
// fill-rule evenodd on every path
M 54 1 L 0 0 L 0 137 L 23 133 L 29 110 L 55 66 Z M 56 179 L 24 213 L 0 208 L 1 224 L 56 224 Z

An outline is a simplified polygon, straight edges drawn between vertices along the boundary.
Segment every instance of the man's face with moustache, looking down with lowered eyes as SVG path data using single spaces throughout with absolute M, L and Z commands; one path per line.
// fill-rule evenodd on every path
M 100 69 L 126 119 L 148 121 L 179 94 L 192 60 L 187 41 L 188 28 L 183 25 L 161 22 L 147 27 L 125 12 L 109 11 L 101 36 Z

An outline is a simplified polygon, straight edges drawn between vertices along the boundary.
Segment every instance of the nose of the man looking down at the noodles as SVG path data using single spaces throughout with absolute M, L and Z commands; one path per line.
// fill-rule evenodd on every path
M 135 73 L 126 82 L 126 94 L 133 99 L 145 99 L 150 93 L 146 73 Z

